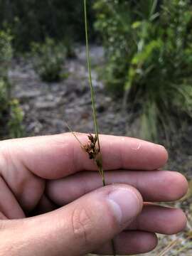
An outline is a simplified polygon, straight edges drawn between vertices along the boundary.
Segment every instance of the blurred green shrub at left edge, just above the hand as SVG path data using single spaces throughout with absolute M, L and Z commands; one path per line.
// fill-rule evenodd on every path
M 21 137 L 23 114 L 18 101 L 11 99 L 8 70 L 12 58 L 12 37 L 9 31 L 0 31 L 0 137 Z

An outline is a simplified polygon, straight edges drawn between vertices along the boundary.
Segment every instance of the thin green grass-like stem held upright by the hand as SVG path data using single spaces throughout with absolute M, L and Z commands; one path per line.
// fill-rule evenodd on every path
M 99 129 L 97 124 L 97 114 L 96 114 L 96 107 L 95 107 L 95 92 L 92 86 L 92 73 L 91 73 L 91 65 L 90 65 L 90 46 L 88 40 L 88 26 L 87 26 L 87 0 L 84 0 L 84 12 L 85 12 L 85 39 L 86 39 L 86 53 L 87 53 L 87 68 L 89 73 L 89 83 L 90 83 L 90 92 L 91 92 L 91 100 L 92 100 L 92 114 L 95 123 L 95 135 L 97 137 L 97 144 L 100 154 L 100 159 L 97 159 L 97 167 L 99 169 L 100 174 L 102 175 L 102 183 L 103 186 L 106 186 L 105 182 L 105 174 L 102 168 L 102 154 L 101 154 L 101 147 L 100 147 L 100 138 L 99 138 Z M 116 250 L 114 246 L 114 240 L 112 240 L 112 252 L 113 255 L 116 255 Z

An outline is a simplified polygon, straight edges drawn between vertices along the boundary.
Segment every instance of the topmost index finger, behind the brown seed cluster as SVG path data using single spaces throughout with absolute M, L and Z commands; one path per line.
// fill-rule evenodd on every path
M 86 134 L 77 134 L 87 144 Z M 167 161 L 163 146 L 128 137 L 100 135 L 103 167 L 114 169 L 159 169 Z M 13 139 L 0 144 L 0 167 L 18 165 L 41 178 L 62 178 L 82 170 L 97 170 L 73 134 Z

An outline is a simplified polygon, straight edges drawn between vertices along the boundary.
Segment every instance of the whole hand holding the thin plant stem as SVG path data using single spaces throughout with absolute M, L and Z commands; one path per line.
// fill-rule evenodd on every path
M 0 255 L 111 255 L 112 238 L 117 254 L 139 254 L 156 247 L 155 233 L 185 228 L 182 210 L 153 203 L 188 188 L 181 174 L 159 171 L 166 149 L 127 137 L 100 142 L 105 188 L 73 134 L 0 142 Z

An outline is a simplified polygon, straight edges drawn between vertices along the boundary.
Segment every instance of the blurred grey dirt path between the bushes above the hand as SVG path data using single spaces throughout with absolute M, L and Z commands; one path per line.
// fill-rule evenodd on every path
M 94 56 L 94 65 L 100 63 L 102 48 L 93 47 L 91 56 Z M 66 62 L 65 69 L 69 72 L 68 79 L 51 84 L 41 82 L 30 64 L 18 63 L 11 70 L 13 94 L 21 102 L 27 136 L 65 132 L 68 130 L 65 121 L 75 131 L 92 132 L 92 107 L 84 47 L 78 50 L 78 58 Z M 92 77 L 100 132 L 124 134 L 124 119 L 119 112 L 121 100 L 114 102 L 104 92 L 94 71 Z

